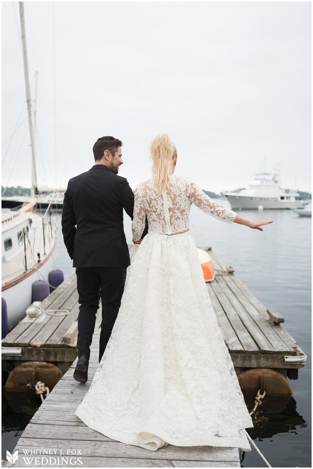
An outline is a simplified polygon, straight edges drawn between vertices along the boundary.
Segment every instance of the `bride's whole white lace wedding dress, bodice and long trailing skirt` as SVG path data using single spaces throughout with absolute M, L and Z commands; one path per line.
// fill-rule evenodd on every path
M 75 411 L 111 439 L 157 450 L 164 445 L 228 446 L 251 451 L 253 423 L 211 305 L 189 209 L 196 204 L 231 223 L 236 213 L 188 177 L 172 175 L 167 193 L 153 181 L 135 191 L 138 246 L 107 348 Z M 172 235 L 170 235 L 172 234 Z

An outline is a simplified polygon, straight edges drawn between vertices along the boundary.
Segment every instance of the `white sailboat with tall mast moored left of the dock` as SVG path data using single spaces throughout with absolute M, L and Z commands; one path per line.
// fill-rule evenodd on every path
M 32 124 L 23 2 L 20 2 L 20 17 L 26 102 L 32 151 L 32 182 L 29 203 L 24 203 L 14 210 L 9 208 L 1 209 L 1 292 L 2 307 L 7 313 L 4 318 L 7 331 L 11 330 L 25 316 L 26 309 L 33 301 L 32 291 L 36 280 L 48 281 L 49 272 L 55 268 L 53 251 L 57 242 L 51 216 L 50 219 L 46 219 L 45 216 L 35 211 L 38 202 L 36 198 L 35 139 Z M 48 213 L 48 210 L 46 213 Z M 2 311 L 2 314 L 5 313 Z

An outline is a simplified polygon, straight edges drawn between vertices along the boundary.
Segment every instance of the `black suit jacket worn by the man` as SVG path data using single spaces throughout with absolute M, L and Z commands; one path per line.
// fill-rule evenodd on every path
M 62 233 L 73 267 L 130 265 L 123 209 L 132 219 L 134 194 L 127 180 L 107 166 L 95 165 L 69 180 Z M 147 226 L 143 236 L 146 231 Z

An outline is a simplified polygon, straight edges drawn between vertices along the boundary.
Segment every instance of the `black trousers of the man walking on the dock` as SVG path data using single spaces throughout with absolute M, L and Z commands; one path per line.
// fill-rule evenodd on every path
M 95 315 L 102 302 L 102 324 L 99 342 L 99 362 L 109 341 L 124 292 L 126 267 L 77 267 L 78 358 L 90 357 L 90 345 L 95 330 Z

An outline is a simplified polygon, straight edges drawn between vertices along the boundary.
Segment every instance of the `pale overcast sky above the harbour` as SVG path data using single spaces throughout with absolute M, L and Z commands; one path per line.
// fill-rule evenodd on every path
M 7 141 L 27 117 L 19 4 L 1 6 L 2 184 L 12 173 L 9 186 L 30 187 L 28 121 Z M 280 162 L 282 187 L 311 191 L 310 2 L 25 2 L 24 9 L 33 99 L 39 71 L 39 185 L 54 187 L 57 174 L 66 187 L 93 166 L 96 139 L 112 135 L 124 143 L 119 174 L 134 189 L 151 176 L 149 143 L 164 132 L 177 146 L 177 174 L 203 189 L 246 187 Z

